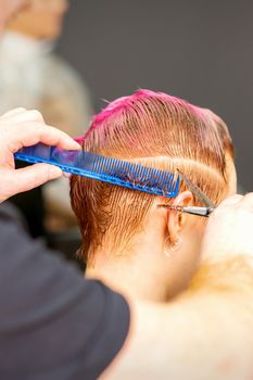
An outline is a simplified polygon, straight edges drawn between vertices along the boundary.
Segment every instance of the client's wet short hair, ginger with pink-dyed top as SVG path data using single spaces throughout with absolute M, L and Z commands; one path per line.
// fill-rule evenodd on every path
M 179 168 L 215 203 L 228 190 L 226 124 L 208 110 L 162 92 L 138 90 L 110 103 L 81 141 L 85 151 L 174 173 Z M 184 190 L 184 185 L 180 191 Z M 131 246 L 155 195 L 72 176 L 71 201 L 83 235 L 80 255 L 91 263 L 99 245 L 112 254 Z M 168 200 L 169 201 L 169 200 Z M 198 204 L 198 200 L 193 200 Z

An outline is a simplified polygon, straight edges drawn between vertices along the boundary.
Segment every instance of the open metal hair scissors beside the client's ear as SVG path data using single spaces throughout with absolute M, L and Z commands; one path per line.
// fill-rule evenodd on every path
M 173 205 L 173 204 L 159 204 L 159 207 L 166 207 L 166 208 L 179 211 L 180 213 L 208 217 L 215 210 L 216 205 L 197 185 L 193 185 L 179 169 L 177 169 L 177 172 L 179 173 L 181 179 L 186 182 L 189 190 L 191 190 L 193 194 L 202 203 L 204 203 L 205 206 L 199 207 L 199 206 L 180 206 L 180 205 Z

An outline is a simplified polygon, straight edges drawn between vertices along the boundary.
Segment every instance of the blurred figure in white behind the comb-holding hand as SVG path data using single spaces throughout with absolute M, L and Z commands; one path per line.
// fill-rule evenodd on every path
M 9 23 L 0 45 L 0 113 L 16 106 L 37 109 L 47 124 L 74 137 L 88 129 L 92 109 L 79 75 L 53 51 L 67 9 L 67 0 L 29 0 Z M 13 200 L 34 237 L 43 235 L 43 199 L 49 231 L 64 231 L 75 224 L 68 183 L 60 179 L 42 193 L 34 190 Z

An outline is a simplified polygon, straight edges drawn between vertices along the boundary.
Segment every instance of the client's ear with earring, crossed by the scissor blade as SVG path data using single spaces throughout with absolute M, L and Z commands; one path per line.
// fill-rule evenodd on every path
M 192 203 L 192 193 L 190 191 L 184 191 L 174 199 L 172 204 L 174 206 L 188 206 Z M 170 243 L 178 241 L 178 236 L 186 223 L 186 215 L 175 210 L 167 211 L 167 229 Z

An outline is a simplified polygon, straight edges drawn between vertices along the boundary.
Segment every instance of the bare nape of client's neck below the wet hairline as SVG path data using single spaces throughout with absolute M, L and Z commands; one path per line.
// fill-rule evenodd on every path
M 137 251 L 106 255 L 102 251 L 94 253 L 96 263 L 88 266 L 87 277 L 97 278 L 110 288 L 131 299 L 166 302 L 182 290 L 188 281 L 185 271 L 180 283 L 175 281 L 177 266 L 184 264 L 184 255 L 169 258 L 159 244 L 136 244 Z M 175 259 L 176 258 L 176 259 Z M 181 262 L 177 262 L 181 261 Z M 177 284 L 175 286 L 175 283 Z

